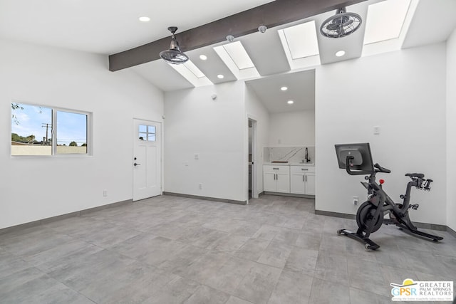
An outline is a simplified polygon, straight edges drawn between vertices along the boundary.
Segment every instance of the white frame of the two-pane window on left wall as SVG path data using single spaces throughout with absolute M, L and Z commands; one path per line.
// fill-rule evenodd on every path
M 91 157 L 93 156 L 93 112 L 83 111 L 83 110 L 73 110 L 68 108 L 60 108 L 54 107 L 52 105 L 44 105 L 44 104 L 37 104 L 37 103 L 28 103 L 21 100 L 11 100 L 11 104 L 19 104 L 19 105 L 30 105 L 33 107 L 41 107 L 41 108 L 48 108 L 51 110 L 51 155 L 33 155 L 33 154 L 24 154 L 24 155 L 14 155 L 12 154 L 11 144 L 9 146 L 9 154 L 10 157 Z M 86 115 L 86 153 L 57 153 L 57 129 L 58 129 L 58 121 L 57 121 L 57 112 L 68 112 L 74 114 L 81 114 Z M 13 123 L 13 109 L 11 108 L 11 121 L 10 121 L 10 133 L 12 133 L 12 123 Z M 54 140 L 56 139 L 56 140 Z

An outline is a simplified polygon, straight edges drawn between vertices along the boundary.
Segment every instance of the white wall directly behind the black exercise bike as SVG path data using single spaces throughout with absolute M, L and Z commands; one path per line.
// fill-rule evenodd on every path
M 338 169 L 334 145 L 370 142 L 374 162 L 392 171 L 379 174 L 390 197 L 400 201 L 405 173 L 422 172 L 435 182 L 431 192 L 413 190 L 420 209 L 411 218 L 446 224 L 445 58 L 440 43 L 316 70 L 316 209 L 356 213 L 353 196 L 366 198 L 363 176 Z

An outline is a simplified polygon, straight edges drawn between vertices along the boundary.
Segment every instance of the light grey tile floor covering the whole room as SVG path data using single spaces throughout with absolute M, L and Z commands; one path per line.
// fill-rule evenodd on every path
M 157 196 L 0 235 L 0 303 L 391 303 L 390 283 L 455 281 L 450 234 L 382 226 L 368 252 L 336 234 L 355 227 L 311 199 Z

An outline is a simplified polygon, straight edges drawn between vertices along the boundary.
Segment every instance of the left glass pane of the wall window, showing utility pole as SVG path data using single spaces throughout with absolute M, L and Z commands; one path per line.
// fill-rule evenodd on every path
M 11 103 L 11 155 L 52 154 L 52 109 Z

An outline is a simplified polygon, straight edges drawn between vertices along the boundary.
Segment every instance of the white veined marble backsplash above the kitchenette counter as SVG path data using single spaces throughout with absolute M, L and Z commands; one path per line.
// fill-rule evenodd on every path
M 310 162 L 315 162 L 315 147 L 307 147 Z M 264 162 L 302 162 L 306 147 L 264 147 Z M 304 161 L 305 162 L 305 161 Z

